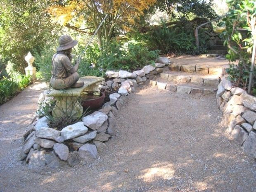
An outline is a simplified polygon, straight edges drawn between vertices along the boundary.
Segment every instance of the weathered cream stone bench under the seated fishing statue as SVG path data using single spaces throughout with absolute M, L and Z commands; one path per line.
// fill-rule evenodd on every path
M 83 114 L 83 107 L 80 103 L 81 93 L 84 91 L 100 91 L 99 85 L 104 80 L 101 77 L 85 76 L 79 78 L 84 85 L 81 88 L 69 88 L 66 90 L 52 90 L 49 96 L 55 97 L 57 100 L 52 115 L 56 118 L 66 116 L 81 117 Z

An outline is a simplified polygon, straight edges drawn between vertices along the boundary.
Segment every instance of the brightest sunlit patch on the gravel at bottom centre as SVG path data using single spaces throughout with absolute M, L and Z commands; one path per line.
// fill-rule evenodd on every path
M 142 171 L 142 175 L 139 176 L 140 179 L 143 179 L 145 182 L 152 182 L 155 179 L 169 179 L 172 178 L 175 173 L 173 164 L 161 165 L 154 164 L 152 168 L 147 168 Z

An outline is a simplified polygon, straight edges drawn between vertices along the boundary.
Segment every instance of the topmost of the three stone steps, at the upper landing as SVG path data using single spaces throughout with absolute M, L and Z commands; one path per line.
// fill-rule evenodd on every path
M 166 69 L 166 68 L 165 68 Z M 207 64 L 169 64 L 169 71 L 183 71 L 187 73 L 199 73 L 199 74 L 213 74 L 221 76 L 222 66 L 211 66 Z M 167 71 L 167 70 L 166 70 Z

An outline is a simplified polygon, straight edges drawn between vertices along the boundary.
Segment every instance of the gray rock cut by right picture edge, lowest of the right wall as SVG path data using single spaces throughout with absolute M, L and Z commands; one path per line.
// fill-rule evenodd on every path
M 243 149 L 249 156 L 256 158 L 256 133 L 251 131 L 244 142 Z

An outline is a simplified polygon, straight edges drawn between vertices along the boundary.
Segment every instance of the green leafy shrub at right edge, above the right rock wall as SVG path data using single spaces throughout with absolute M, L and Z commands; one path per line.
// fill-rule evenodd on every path
M 237 86 L 248 89 L 249 73 L 251 66 L 252 47 L 256 39 L 256 3 L 254 0 L 228 0 L 228 16 L 223 19 L 219 26 L 225 26 L 223 36 L 228 46 L 226 58 L 230 62 L 239 60 L 237 66 L 230 64 L 229 78 Z M 252 90 L 256 94 L 256 70 L 251 71 Z

